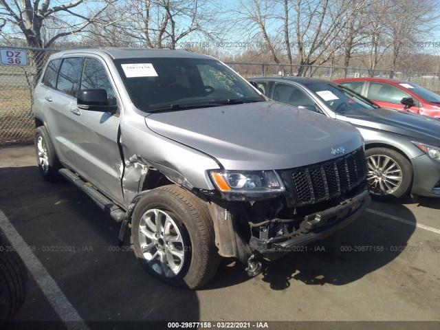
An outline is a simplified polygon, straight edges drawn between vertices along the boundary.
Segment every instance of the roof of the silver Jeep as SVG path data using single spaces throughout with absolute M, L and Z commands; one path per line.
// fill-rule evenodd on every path
M 187 50 L 159 50 L 155 48 L 119 48 L 119 47 L 79 47 L 63 50 L 58 54 L 91 53 L 106 54 L 110 58 L 148 58 L 148 57 L 179 57 L 179 58 L 207 58 L 211 56 L 189 52 Z

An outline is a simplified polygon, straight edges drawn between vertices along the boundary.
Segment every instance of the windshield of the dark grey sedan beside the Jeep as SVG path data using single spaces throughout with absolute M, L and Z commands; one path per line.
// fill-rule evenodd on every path
M 341 85 L 336 87 L 327 83 L 314 83 L 307 87 L 318 94 L 336 113 L 377 108 L 372 102 Z

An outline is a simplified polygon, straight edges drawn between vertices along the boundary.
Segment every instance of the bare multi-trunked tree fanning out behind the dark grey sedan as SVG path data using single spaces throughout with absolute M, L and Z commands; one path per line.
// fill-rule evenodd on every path
M 340 51 L 349 37 L 344 30 L 357 22 L 367 1 L 241 0 L 236 12 L 241 14 L 247 30 L 254 32 L 251 37 L 261 36 L 275 63 L 287 56 L 292 65 L 296 58 L 300 64 L 298 75 L 302 75 L 310 65 L 322 65 Z M 354 23 L 353 34 L 358 28 Z

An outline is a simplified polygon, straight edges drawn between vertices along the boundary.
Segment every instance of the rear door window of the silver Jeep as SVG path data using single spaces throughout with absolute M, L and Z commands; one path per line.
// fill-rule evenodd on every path
M 74 96 L 74 98 L 78 98 L 82 67 L 83 58 L 64 58 L 63 63 L 61 63 L 60 72 L 58 73 L 56 89 L 70 96 Z

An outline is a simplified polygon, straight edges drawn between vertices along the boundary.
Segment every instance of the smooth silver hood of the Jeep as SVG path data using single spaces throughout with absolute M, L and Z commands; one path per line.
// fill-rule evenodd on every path
M 362 137 L 349 124 L 278 102 L 152 113 L 149 129 L 216 158 L 229 170 L 278 170 L 350 152 Z

